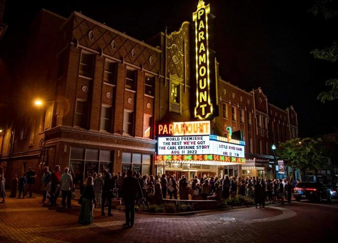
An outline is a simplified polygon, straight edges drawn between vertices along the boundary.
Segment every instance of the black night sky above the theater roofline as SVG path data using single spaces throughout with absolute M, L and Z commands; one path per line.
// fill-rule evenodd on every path
M 149 1 L 16 1 L 7 0 L 8 23 L 2 47 L 20 41 L 20 32 L 41 8 L 69 17 L 82 13 L 127 35 L 146 40 L 168 26 L 177 30 L 191 21 L 197 0 Z M 314 59 L 310 51 L 332 44 L 335 20 L 313 17 L 314 0 L 206 0 L 211 3 L 214 42 L 220 75 L 246 90 L 262 87 L 268 101 L 281 108 L 293 105 L 301 137 L 331 133 L 338 101 L 317 100 L 324 81 L 337 77 L 337 65 Z M 20 26 L 20 27 L 19 27 Z M 336 30 L 334 33 L 333 30 Z M 15 41 L 16 40 L 16 41 Z

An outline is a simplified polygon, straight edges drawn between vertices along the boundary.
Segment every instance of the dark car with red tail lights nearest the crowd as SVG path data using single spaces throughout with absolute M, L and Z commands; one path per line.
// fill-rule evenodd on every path
M 297 202 L 302 199 L 321 202 L 322 199 L 331 202 L 331 193 L 327 187 L 320 182 L 301 182 L 294 189 L 294 197 Z

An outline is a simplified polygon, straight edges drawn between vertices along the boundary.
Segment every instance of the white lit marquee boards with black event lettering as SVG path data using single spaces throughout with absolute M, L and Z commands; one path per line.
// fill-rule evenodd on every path
M 244 146 L 215 136 L 159 137 L 158 155 L 217 155 L 244 158 Z

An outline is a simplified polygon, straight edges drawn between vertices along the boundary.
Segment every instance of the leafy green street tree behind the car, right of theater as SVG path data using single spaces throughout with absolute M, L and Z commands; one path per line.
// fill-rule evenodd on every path
M 324 147 L 321 139 L 296 138 L 279 143 L 277 156 L 283 159 L 286 175 L 292 182 L 296 170 L 318 169 L 323 164 Z M 291 167 L 291 173 L 288 171 Z

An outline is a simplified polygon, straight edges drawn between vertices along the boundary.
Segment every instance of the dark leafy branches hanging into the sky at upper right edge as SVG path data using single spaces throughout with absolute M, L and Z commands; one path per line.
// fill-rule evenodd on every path
M 333 0 L 317 0 L 316 4 L 309 10 L 315 17 L 323 16 L 325 19 L 334 19 L 338 16 L 338 4 Z M 325 49 L 316 49 L 311 52 L 315 58 L 327 60 L 329 62 L 338 61 L 338 37 L 331 47 Z M 321 92 L 317 99 L 325 103 L 325 101 L 333 101 L 338 99 L 338 78 L 331 78 L 325 82 L 326 86 L 331 86 L 330 91 Z

